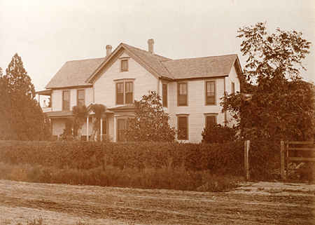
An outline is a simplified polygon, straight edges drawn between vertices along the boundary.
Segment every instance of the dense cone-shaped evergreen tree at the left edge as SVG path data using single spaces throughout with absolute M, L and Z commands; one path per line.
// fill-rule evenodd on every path
M 0 74 L 0 87 L 0 139 L 50 139 L 49 123 L 18 54 L 8 64 L 6 75 Z

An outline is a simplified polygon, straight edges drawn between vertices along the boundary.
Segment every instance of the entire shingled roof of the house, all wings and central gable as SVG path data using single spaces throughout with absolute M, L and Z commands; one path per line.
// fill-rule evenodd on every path
M 92 86 L 104 72 L 111 67 L 120 55 L 127 53 L 153 76 L 163 79 L 195 79 L 228 76 L 233 65 L 241 72 L 237 55 L 198 57 L 183 60 L 171 60 L 167 57 L 151 54 L 125 43 L 113 50 L 107 57 L 66 62 L 57 74 L 45 86 L 46 89 Z

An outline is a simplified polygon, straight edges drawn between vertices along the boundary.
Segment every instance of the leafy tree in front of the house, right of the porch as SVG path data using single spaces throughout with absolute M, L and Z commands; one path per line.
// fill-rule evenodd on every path
M 134 101 L 134 118 L 129 118 L 125 137 L 137 142 L 172 142 L 176 137 L 175 128 L 169 126 L 169 116 L 165 115 L 161 97 L 149 91 L 140 101 Z

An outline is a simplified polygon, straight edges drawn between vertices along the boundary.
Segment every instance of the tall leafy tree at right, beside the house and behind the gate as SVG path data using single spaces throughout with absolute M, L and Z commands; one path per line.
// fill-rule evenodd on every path
M 301 80 L 302 60 L 311 43 L 300 32 L 265 23 L 239 29 L 241 52 L 247 55 L 242 93 L 223 97 L 223 111 L 239 122 L 244 137 L 309 139 L 314 135 L 314 84 Z

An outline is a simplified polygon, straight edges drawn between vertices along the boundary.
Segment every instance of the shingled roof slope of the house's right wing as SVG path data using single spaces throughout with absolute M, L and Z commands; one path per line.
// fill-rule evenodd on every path
M 183 60 L 169 60 L 162 64 L 174 79 L 193 79 L 228 76 L 237 55 L 219 55 Z

